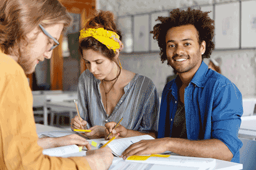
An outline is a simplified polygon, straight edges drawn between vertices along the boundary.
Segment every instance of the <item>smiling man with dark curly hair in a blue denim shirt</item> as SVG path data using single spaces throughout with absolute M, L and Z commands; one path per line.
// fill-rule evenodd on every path
M 177 8 L 169 17 L 158 17 L 160 23 L 151 33 L 158 40 L 162 62 L 167 60 L 178 75 L 163 90 L 158 139 L 131 145 L 123 158 L 171 151 L 240 162 L 242 95 L 203 62 L 214 49 L 214 21 L 208 13 Z

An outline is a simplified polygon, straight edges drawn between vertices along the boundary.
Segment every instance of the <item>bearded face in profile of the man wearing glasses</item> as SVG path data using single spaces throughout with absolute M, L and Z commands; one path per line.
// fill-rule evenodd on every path
M 46 31 L 56 40 L 59 40 L 63 24 L 55 24 L 46 27 Z M 39 32 L 39 33 L 38 33 Z M 31 74 L 35 71 L 36 65 L 39 61 L 44 61 L 44 58 L 51 58 L 52 50 L 49 51 L 54 41 L 46 36 L 42 29 L 36 27 L 28 33 L 28 39 L 32 39 L 38 33 L 35 40 L 29 42 L 27 46 L 20 47 L 21 56 L 18 58 L 19 65 L 23 68 L 26 74 Z

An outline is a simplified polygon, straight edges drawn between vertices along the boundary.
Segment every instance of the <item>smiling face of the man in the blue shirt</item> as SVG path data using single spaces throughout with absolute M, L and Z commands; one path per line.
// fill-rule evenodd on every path
M 199 44 L 194 25 L 173 27 L 166 34 L 166 54 L 168 65 L 177 73 L 195 74 L 205 52 L 205 41 Z

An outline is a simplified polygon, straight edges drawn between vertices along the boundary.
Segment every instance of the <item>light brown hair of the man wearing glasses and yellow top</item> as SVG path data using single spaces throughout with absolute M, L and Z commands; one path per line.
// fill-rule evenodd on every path
M 4 53 L 20 56 L 20 43 L 28 45 L 26 35 L 41 24 L 47 27 L 72 22 L 66 8 L 57 0 L 1 0 L 0 46 Z M 40 30 L 40 28 L 39 28 Z M 38 32 L 39 33 L 39 32 Z

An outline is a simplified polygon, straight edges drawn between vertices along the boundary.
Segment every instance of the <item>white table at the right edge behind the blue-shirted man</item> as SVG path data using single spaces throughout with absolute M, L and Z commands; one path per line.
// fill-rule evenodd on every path
M 240 135 L 246 135 L 250 138 L 256 138 L 256 116 L 242 116 L 241 126 L 238 131 Z

